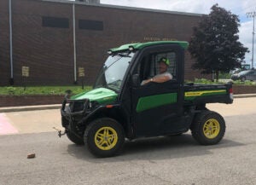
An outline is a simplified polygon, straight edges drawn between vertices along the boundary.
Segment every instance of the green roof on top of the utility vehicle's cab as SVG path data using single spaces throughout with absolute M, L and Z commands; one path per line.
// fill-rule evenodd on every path
M 156 42 L 148 42 L 148 43 L 127 43 L 125 45 L 121 45 L 119 48 L 110 49 L 112 52 L 119 52 L 128 50 L 129 47 L 133 47 L 134 49 L 143 49 L 148 46 L 160 45 L 160 44 L 178 44 L 183 49 L 187 49 L 189 47 L 189 43 L 185 41 L 156 41 Z

